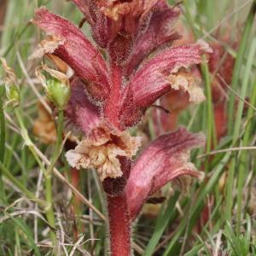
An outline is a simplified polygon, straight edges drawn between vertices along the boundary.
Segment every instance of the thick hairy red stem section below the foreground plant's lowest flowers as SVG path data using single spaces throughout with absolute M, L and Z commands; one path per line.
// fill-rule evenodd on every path
M 108 195 L 111 256 L 131 256 L 131 220 L 125 195 Z

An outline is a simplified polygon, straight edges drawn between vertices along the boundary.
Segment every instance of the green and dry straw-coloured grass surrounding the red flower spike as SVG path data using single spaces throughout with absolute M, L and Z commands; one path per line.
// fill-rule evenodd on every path
M 71 1 L 0 0 L 0 56 L 15 69 L 20 86 L 17 114 L 11 104 L 6 106 L 0 79 L 0 255 L 52 255 L 52 233 L 58 255 L 103 255 L 104 195 L 94 172 L 80 172 L 78 200 L 78 190 L 71 188 L 72 172 L 61 154 L 52 183 L 55 226 L 38 203 L 27 199 L 44 198 L 42 166 L 49 165 L 53 152 L 53 145 L 42 143 L 32 132 L 44 91 L 34 75 L 39 62 L 29 56 L 43 37 L 29 20 L 41 5 L 76 24 L 83 18 Z M 236 60 L 231 83 L 226 84 L 228 131 L 218 142 L 211 90 L 217 74 L 209 73 L 204 64 L 207 100 L 183 110 L 178 124 L 207 135 L 207 147 L 192 155 L 192 162 L 204 167 L 206 181 L 195 183 L 188 195 L 171 193 L 172 185 L 166 186 L 166 201 L 145 209 L 137 220 L 135 255 L 256 255 L 256 2 L 183 0 L 180 6 L 183 30 L 190 38 L 219 44 Z M 83 30 L 90 36 L 88 26 Z M 233 43 L 227 44 L 226 38 Z M 150 113 L 146 125 L 153 138 Z

